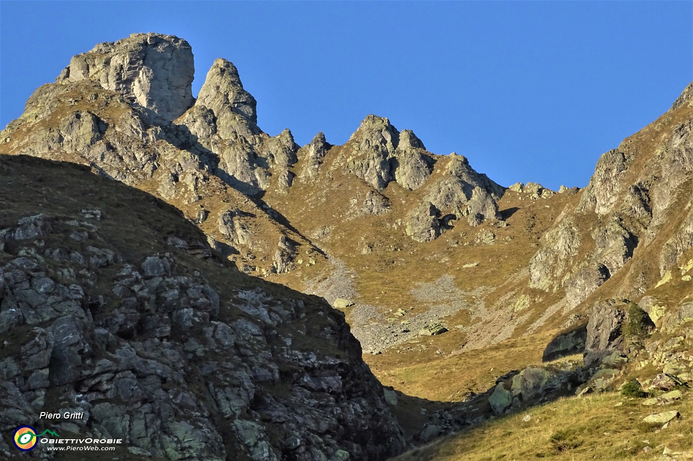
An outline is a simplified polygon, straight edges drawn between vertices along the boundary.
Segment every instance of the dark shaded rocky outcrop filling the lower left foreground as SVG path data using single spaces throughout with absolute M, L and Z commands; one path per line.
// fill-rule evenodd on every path
M 6 435 L 21 424 L 121 438 L 121 459 L 384 460 L 403 449 L 358 341 L 322 298 L 220 264 L 143 192 L 26 157 L 3 156 L 0 172 L 0 458 L 17 455 Z M 100 208 L 84 207 L 89 190 L 104 194 Z M 17 194 L 43 212 L 22 215 L 8 201 Z M 152 239 L 152 227 L 168 235 Z M 83 417 L 39 417 L 68 410 Z

